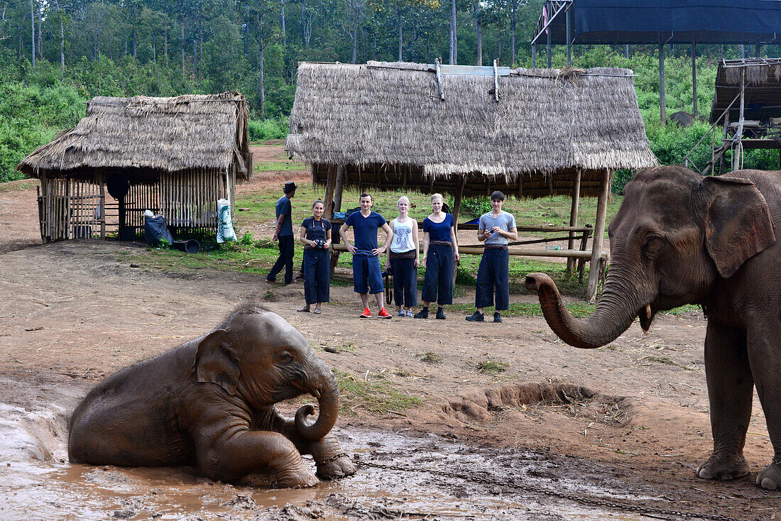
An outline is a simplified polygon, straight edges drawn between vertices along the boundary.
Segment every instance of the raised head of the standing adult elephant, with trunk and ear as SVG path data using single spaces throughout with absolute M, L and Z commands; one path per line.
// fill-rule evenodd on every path
M 776 241 L 765 198 L 740 173 L 701 177 L 683 166 L 641 171 L 626 185 L 608 228 L 610 269 L 597 309 L 572 318 L 543 273 L 530 273 L 548 325 L 566 343 L 598 348 L 640 317 L 702 302 L 719 277 L 729 278 Z

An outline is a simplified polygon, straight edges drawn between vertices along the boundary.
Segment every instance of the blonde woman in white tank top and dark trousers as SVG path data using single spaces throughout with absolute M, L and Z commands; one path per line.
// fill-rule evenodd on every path
M 402 195 L 396 203 L 398 217 L 390 223 L 393 230 L 391 252 L 387 255 L 385 269 L 391 266 L 393 292 L 398 316 L 412 318 L 412 308 L 418 305 L 418 264 L 420 248 L 418 221 L 408 216 L 409 199 Z M 404 308 L 407 308 L 405 312 Z

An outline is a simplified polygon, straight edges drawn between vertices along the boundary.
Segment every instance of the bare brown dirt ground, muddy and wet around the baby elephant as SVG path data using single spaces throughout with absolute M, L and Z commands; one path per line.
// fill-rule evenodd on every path
M 306 180 L 288 175 L 240 190 Z M 115 242 L 41 244 L 34 194 L 0 193 L 0 519 L 781 519 L 781 493 L 754 485 L 772 457 L 758 399 L 751 475 L 694 476 L 712 445 L 699 312 L 658 316 L 647 335 L 636 322 L 597 350 L 540 317 L 359 319 L 351 287 L 332 287 L 320 316 L 296 313 L 298 282 L 134 268 L 137 247 Z M 284 491 L 67 463 L 67 418 L 92 386 L 251 298 L 333 369 L 421 399 L 340 416 L 355 476 Z M 506 370 L 481 373 L 486 360 Z

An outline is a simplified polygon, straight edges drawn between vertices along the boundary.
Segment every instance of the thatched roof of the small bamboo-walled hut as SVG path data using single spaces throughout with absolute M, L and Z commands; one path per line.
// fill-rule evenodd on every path
M 247 168 L 247 101 L 237 92 L 175 98 L 98 97 L 87 116 L 16 167 L 29 176 L 85 175 L 94 169 L 177 172 Z

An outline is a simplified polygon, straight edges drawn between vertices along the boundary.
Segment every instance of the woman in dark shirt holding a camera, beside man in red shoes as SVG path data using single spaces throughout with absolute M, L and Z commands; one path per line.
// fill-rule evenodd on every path
M 323 219 L 325 205 L 319 199 L 312 203 L 312 217 L 304 219 L 298 240 L 304 244 L 304 298 L 306 305 L 297 311 L 309 312 L 312 304 L 316 313 L 320 305 L 329 301 L 331 284 L 331 222 Z

